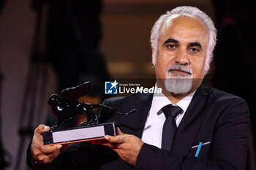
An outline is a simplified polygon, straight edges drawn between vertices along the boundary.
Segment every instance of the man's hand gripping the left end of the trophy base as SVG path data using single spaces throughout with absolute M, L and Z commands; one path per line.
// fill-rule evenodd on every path
M 50 163 L 56 158 L 61 152 L 62 145 L 45 146 L 42 140 L 42 132 L 49 131 L 50 127 L 45 125 L 39 125 L 34 130 L 34 136 L 31 143 L 31 154 L 32 156 L 42 162 Z

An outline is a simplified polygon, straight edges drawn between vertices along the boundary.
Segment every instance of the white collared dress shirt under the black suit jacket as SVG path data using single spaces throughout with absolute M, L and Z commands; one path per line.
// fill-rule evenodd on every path
M 189 94 L 189 96 L 182 98 L 177 104 L 173 104 L 183 109 L 183 112 L 176 117 L 177 127 L 179 123 L 181 123 L 182 117 L 184 117 L 194 94 L 195 91 Z M 165 123 L 165 115 L 162 112 L 162 107 L 165 107 L 168 104 L 172 103 L 163 93 L 154 93 L 151 109 L 148 112 L 148 117 L 141 138 L 143 142 L 161 148 L 162 127 Z

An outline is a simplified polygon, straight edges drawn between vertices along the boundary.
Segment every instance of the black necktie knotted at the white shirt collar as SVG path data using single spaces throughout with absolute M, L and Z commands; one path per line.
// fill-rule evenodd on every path
M 162 149 L 171 150 L 173 144 L 173 137 L 176 132 L 176 116 L 180 114 L 183 110 L 181 107 L 173 106 L 169 104 L 162 108 L 162 112 L 164 112 L 166 120 L 164 126 L 162 128 Z

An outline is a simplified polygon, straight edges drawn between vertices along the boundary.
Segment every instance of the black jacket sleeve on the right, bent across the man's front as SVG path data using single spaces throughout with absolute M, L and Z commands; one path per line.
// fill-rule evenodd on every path
M 236 98 L 220 113 L 208 159 L 189 158 L 143 144 L 135 169 L 138 170 L 244 170 L 248 152 L 249 109 Z

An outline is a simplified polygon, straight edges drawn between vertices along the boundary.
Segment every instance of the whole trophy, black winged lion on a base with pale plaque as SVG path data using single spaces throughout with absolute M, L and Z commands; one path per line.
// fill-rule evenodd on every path
M 118 115 L 129 115 L 136 112 L 132 109 L 130 112 L 121 113 L 111 107 L 103 104 L 88 104 L 78 102 L 80 96 L 89 92 L 90 82 L 84 82 L 74 88 L 66 88 L 61 91 L 61 96 L 52 94 L 48 100 L 53 115 L 57 122 L 50 127 L 50 131 L 42 133 L 45 145 L 69 144 L 75 142 L 84 142 L 90 140 L 104 139 L 105 135 L 116 136 L 115 123 L 100 123 L 99 113 L 93 111 L 94 108 L 104 108 L 115 112 Z M 75 115 L 86 115 L 86 120 L 78 127 L 58 129 L 64 120 Z M 102 113 L 104 114 L 104 112 Z

